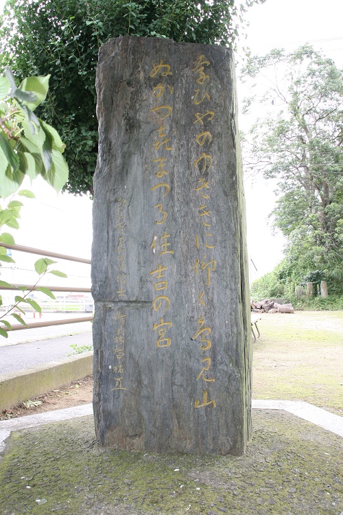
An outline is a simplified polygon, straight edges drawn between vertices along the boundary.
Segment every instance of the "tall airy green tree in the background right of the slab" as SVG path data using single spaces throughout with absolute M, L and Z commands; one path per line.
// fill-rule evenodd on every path
M 342 274 L 343 71 L 308 45 L 248 60 L 245 76 L 270 84 L 247 139 L 246 172 L 277 179 L 270 214 L 287 238 L 286 258 L 298 277 L 322 270 Z M 258 88 L 258 86 L 257 86 Z M 245 112 L 255 105 L 246 99 Z M 324 277 L 323 277 L 324 279 Z

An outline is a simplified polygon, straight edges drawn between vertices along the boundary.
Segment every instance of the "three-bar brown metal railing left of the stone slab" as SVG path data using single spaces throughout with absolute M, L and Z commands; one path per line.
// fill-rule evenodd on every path
M 11 249 L 15 251 L 20 252 L 27 252 L 31 254 L 38 254 L 43 255 L 44 257 L 49 256 L 49 258 L 58 258 L 61 260 L 67 260 L 67 261 L 74 261 L 79 263 L 85 263 L 85 264 L 91 264 L 91 260 L 86 260 L 84 258 L 75 258 L 71 255 L 66 254 L 60 254 L 56 252 L 50 252 L 50 251 L 43 251 L 41 249 L 34 249 L 32 247 L 24 247 L 23 245 L 5 245 L 6 249 Z M 13 284 L 13 288 L 10 288 L 9 286 L 1 286 L 0 290 L 16 290 L 17 288 L 25 287 L 28 290 L 37 290 L 38 288 L 48 288 L 52 292 L 70 292 L 70 293 L 91 293 L 91 288 L 73 288 L 68 286 L 43 286 L 41 284 Z M 27 327 L 25 325 L 22 325 L 21 323 L 18 324 L 11 324 L 12 331 L 19 331 L 24 329 L 34 329 L 34 328 L 44 328 L 49 327 L 51 325 L 63 325 L 66 323 L 78 323 L 78 322 L 88 322 L 92 321 L 92 317 L 78 317 L 73 319 L 62 319 L 62 320 L 51 320 L 51 321 L 40 321 L 40 322 L 33 322 L 33 323 L 27 323 Z M 5 327 L 2 327 L 4 330 L 8 330 Z

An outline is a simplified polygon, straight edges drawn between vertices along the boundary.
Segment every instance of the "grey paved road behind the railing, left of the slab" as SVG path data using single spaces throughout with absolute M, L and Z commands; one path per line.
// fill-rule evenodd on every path
M 82 322 L 82 325 L 84 324 L 88 324 L 88 331 L 81 334 L 0 347 L 0 374 L 10 374 L 35 365 L 65 359 L 69 352 L 73 352 L 71 343 L 79 346 L 92 345 L 91 322 Z M 80 324 L 68 324 L 68 327 L 72 326 L 71 330 L 75 331 L 75 325 Z M 65 328 L 67 325 L 63 327 Z

